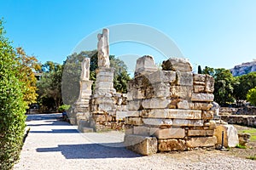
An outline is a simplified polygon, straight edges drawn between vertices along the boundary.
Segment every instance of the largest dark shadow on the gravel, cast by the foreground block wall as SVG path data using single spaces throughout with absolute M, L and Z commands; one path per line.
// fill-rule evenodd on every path
M 111 143 L 108 145 L 119 145 Z M 133 158 L 140 155 L 126 150 L 125 147 L 109 147 L 102 144 L 59 144 L 54 148 L 38 148 L 38 152 L 61 151 L 66 159 Z

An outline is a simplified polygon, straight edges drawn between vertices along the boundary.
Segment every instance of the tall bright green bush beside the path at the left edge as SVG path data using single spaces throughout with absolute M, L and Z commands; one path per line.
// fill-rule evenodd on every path
M 26 127 L 26 102 L 17 65 L 15 48 L 4 37 L 0 20 L 0 169 L 11 169 L 19 159 Z

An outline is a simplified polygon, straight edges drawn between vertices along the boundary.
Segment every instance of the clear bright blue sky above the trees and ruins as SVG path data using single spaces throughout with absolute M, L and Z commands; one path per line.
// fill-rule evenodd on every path
M 84 37 L 123 23 L 137 23 L 163 32 L 194 66 L 230 69 L 256 59 L 253 0 L 0 0 L 0 4 L 6 36 L 15 47 L 23 47 L 26 54 L 37 56 L 43 63 L 62 63 Z M 164 59 L 154 49 L 132 42 L 112 44 L 110 54 L 152 54 L 159 63 Z

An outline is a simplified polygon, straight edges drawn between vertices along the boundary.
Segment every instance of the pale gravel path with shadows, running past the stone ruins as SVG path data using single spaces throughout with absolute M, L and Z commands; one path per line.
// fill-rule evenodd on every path
M 256 169 L 256 161 L 218 150 L 139 156 L 122 147 L 123 133 L 79 133 L 61 114 L 31 115 L 18 169 Z

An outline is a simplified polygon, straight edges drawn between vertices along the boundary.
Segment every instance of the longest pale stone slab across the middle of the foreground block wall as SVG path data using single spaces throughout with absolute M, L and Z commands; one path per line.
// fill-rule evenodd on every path
M 141 116 L 152 118 L 174 118 L 174 119 L 201 119 L 201 111 L 178 110 L 178 109 L 156 109 L 141 111 Z

